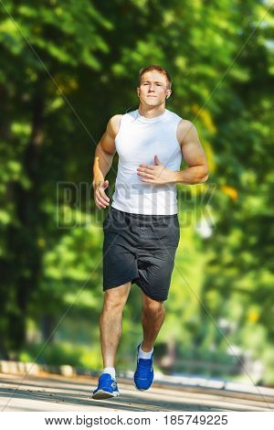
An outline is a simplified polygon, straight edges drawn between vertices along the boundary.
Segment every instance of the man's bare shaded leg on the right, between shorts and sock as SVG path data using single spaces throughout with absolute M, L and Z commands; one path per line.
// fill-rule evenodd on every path
M 163 302 L 158 302 L 142 293 L 142 350 L 149 352 L 153 349 L 154 341 L 163 325 L 165 308 Z

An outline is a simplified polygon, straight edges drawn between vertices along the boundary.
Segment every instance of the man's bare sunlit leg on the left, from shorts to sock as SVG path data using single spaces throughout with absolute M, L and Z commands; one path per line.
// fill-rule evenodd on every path
M 103 366 L 115 367 L 116 352 L 121 339 L 122 310 L 131 291 L 132 281 L 106 290 L 100 313 L 100 347 Z

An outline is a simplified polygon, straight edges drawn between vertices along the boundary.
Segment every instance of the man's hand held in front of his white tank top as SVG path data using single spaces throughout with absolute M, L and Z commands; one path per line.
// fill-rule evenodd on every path
M 154 156 L 155 165 L 139 165 L 137 175 L 141 176 L 142 182 L 151 184 L 174 184 L 176 182 L 176 171 L 163 167 L 158 156 Z

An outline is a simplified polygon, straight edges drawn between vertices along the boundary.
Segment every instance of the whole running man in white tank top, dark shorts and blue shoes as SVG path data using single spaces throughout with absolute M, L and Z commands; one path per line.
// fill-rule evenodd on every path
M 163 325 L 180 239 L 176 184 L 205 182 L 205 152 L 194 124 L 165 109 L 172 93 L 169 73 L 160 66 L 140 70 L 139 108 L 111 117 L 96 147 L 93 188 L 96 206 L 110 199 L 105 180 L 117 150 L 119 156 L 111 210 L 103 222 L 103 291 L 100 343 L 104 369 L 94 399 L 120 394 L 115 357 L 121 338 L 122 310 L 132 284 L 142 290 L 143 339 L 137 347 L 134 383 L 148 390 L 153 383 L 153 345 Z M 182 156 L 188 168 L 180 171 Z

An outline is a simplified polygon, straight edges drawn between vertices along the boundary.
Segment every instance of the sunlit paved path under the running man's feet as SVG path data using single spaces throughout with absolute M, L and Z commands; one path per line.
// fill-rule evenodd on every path
M 93 400 L 97 379 L 41 374 L 21 376 L 0 373 L 0 410 L 37 412 L 81 411 L 271 411 L 274 396 L 202 387 L 169 386 L 154 382 L 147 392 L 131 380 L 117 378 L 121 395 Z

